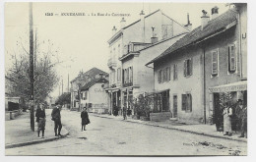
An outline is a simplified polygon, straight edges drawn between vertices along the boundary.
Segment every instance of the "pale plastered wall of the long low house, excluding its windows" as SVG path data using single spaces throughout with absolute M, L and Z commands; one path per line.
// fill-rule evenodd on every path
M 184 77 L 184 60 L 192 58 L 192 76 Z M 173 81 L 173 65 L 177 64 L 177 80 Z M 171 67 L 171 80 L 158 82 L 160 69 Z M 173 111 L 173 95 L 177 95 L 177 118 L 187 123 L 199 123 L 203 119 L 203 97 L 202 97 L 202 50 L 200 48 L 190 48 L 187 51 L 180 51 L 166 57 L 163 61 L 155 64 L 155 88 L 156 92 L 169 89 L 170 111 Z M 181 110 L 181 94 L 190 92 L 192 95 L 192 112 Z

